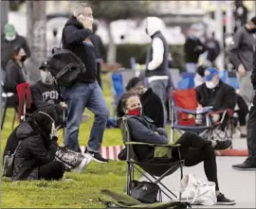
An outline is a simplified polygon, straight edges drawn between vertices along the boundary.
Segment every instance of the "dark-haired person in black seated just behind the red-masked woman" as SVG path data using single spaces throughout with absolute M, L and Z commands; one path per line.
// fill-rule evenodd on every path
M 164 128 L 164 110 L 159 96 L 152 88 L 145 91 L 145 86 L 140 78 L 131 78 L 125 90 L 136 93 L 141 101 L 143 113 L 155 122 L 157 128 Z

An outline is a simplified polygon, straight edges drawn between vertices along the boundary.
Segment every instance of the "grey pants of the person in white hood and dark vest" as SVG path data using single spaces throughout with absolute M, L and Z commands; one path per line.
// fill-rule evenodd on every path
M 164 110 L 164 125 L 167 122 L 167 111 L 166 111 L 166 106 L 165 106 L 165 101 L 166 101 L 166 93 L 167 93 L 167 84 L 168 84 L 168 78 L 166 79 L 155 79 L 149 82 L 149 86 L 152 88 L 153 92 L 157 96 L 160 97 L 163 105 L 163 110 Z

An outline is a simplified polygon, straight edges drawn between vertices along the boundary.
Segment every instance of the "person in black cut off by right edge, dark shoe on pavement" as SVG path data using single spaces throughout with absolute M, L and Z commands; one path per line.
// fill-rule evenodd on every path
M 234 169 L 240 170 L 256 170 L 256 51 L 254 51 L 253 55 L 253 70 L 251 74 L 251 83 L 254 89 L 254 96 L 247 121 L 248 157 L 243 164 L 232 165 Z

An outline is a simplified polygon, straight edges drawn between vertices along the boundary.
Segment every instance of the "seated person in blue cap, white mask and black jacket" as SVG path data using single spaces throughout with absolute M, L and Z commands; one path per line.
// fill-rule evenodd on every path
M 219 71 L 210 67 L 205 70 L 205 83 L 196 87 L 199 106 L 212 106 L 213 111 L 234 110 L 236 104 L 235 90 L 224 83 L 219 77 Z M 221 118 L 220 114 L 213 114 L 213 122 Z

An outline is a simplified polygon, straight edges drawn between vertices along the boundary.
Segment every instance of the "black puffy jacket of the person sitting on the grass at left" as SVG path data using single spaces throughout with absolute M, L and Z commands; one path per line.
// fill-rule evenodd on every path
M 12 181 L 26 180 L 32 170 L 52 162 L 58 148 L 57 137 L 49 140 L 49 136 L 30 120 L 20 125 L 17 137 L 21 145 L 16 150 Z M 38 170 L 35 178 L 38 178 Z

